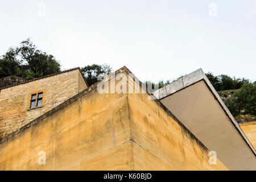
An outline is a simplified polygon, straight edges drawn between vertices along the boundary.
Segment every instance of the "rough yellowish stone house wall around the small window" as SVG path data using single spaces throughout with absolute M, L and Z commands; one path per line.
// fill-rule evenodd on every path
M 0 139 L 53 109 L 87 86 L 79 69 L 2 89 Z M 43 107 L 27 110 L 32 93 L 43 92 Z

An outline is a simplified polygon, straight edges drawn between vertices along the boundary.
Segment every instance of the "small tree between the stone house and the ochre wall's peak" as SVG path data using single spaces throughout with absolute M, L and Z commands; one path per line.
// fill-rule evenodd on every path
M 98 81 L 98 77 L 104 78 L 112 72 L 112 68 L 107 64 L 92 64 L 81 68 L 88 85 L 93 85 Z

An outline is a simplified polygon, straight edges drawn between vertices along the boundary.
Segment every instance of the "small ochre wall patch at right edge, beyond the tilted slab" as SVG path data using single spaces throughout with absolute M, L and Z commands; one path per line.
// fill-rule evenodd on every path
M 256 149 L 256 121 L 239 123 L 243 133 L 250 140 L 253 147 Z

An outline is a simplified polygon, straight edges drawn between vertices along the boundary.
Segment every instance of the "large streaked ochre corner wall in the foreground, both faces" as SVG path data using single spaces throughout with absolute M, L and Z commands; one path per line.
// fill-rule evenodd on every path
M 99 93 L 96 85 L 0 142 L 0 170 L 23 169 L 227 170 L 219 160 L 210 165 L 207 148 L 148 94 Z

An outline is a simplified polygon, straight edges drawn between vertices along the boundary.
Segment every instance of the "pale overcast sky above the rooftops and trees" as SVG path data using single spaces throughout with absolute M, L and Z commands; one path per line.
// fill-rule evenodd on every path
M 141 81 L 198 68 L 256 80 L 255 0 L 10 0 L 0 23 L 0 55 L 30 38 L 62 70 L 107 63 Z

